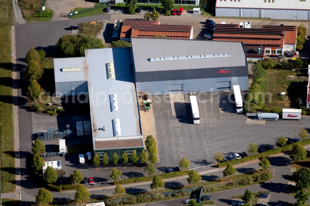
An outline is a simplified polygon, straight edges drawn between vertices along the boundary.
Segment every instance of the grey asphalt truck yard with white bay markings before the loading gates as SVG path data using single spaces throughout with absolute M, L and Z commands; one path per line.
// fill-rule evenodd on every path
M 230 92 L 198 93 L 200 124 L 193 124 L 189 95 L 153 96 L 160 167 L 175 167 L 182 157 L 190 168 L 215 163 L 214 153 L 226 156 L 246 152 L 250 143 L 271 144 L 280 135 L 297 137 L 300 128 L 308 128 L 310 118 L 299 121 L 251 121 L 236 114 L 228 99 Z M 159 101 L 161 99 L 161 101 Z

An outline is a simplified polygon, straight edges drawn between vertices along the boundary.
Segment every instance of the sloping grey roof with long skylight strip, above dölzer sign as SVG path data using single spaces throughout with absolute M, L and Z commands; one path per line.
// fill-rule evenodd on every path
M 247 65 L 241 42 L 131 38 L 131 44 L 135 72 Z M 229 55 L 217 57 L 223 54 Z M 200 55 L 201 58 L 197 57 Z M 210 58 L 211 55 L 217 58 Z M 153 58 L 163 59 L 164 57 L 166 59 L 178 59 L 179 57 L 179 59 L 151 61 Z

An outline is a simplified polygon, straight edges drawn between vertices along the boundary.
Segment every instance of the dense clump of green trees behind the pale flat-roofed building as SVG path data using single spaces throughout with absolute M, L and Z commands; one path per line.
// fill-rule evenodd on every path
M 79 32 L 77 35 L 60 37 L 56 47 L 64 57 L 84 57 L 85 49 L 104 48 L 104 44 L 101 39 Z

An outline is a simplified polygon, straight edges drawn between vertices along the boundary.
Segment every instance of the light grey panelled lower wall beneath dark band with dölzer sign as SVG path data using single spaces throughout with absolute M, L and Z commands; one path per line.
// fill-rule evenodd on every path
M 248 77 L 222 77 L 207 79 L 184 79 L 156 82 L 136 82 L 137 90 L 150 91 L 152 95 L 169 94 L 170 84 L 183 84 L 183 93 L 191 92 L 214 92 L 216 82 L 231 81 L 232 85 L 240 85 L 242 90 L 248 89 Z M 170 92 L 173 93 L 173 92 Z

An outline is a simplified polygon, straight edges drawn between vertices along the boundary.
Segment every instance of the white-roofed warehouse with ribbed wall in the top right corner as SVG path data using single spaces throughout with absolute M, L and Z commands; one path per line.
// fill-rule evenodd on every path
M 215 15 L 310 20 L 309 0 L 216 0 Z

